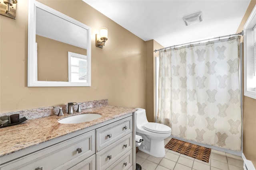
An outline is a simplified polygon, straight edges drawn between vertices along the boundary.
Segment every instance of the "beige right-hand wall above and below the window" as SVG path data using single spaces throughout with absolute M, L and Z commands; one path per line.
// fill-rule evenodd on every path
M 256 0 L 251 0 L 237 32 L 243 30 L 255 5 Z M 256 100 L 247 96 L 243 96 L 243 153 L 256 167 Z

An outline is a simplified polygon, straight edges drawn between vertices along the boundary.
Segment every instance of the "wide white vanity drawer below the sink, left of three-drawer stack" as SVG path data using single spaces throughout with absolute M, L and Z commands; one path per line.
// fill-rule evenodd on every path
M 84 160 L 94 154 L 94 143 L 95 131 L 93 130 L 9 162 L 1 167 L 1 170 L 35 170 L 37 167 L 54 169 L 60 166 L 61 169 L 68 169 L 78 163 L 72 161 L 72 164 L 68 164 L 70 160 L 81 156 Z M 78 153 L 77 149 L 80 148 L 82 152 Z

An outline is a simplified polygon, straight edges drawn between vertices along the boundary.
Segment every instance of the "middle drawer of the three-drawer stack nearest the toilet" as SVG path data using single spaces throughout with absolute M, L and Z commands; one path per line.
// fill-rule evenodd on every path
M 132 149 L 132 133 L 96 153 L 97 170 L 106 169 Z

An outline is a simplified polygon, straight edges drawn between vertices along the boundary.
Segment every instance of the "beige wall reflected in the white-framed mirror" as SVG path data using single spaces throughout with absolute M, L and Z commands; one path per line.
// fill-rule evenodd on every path
M 68 82 L 68 52 L 86 55 L 86 49 L 36 35 L 38 81 Z

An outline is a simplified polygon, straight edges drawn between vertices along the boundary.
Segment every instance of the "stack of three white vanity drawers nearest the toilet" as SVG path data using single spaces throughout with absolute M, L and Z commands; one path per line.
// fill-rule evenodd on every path
M 130 153 L 128 160 L 123 156 Z M 96 169 L 126 170 L 132 166 L 132 116 L 96 129 Z M 118 168 L 112 165 L 120 162 Z

